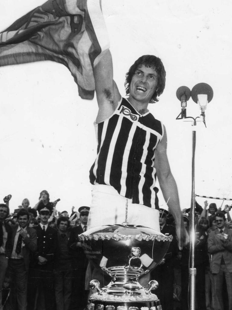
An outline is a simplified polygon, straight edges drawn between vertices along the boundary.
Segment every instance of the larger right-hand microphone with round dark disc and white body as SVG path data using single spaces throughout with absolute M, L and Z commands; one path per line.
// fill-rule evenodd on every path
M 192 100 L 200 105 L 201 116 L 205 125 L 205 113 L 207 104 L 213 99 L 213 89 L 206 83 L 198 83 L 193 86 L 191 91 Z M 206 127 L 206 125 L 205 125 Z

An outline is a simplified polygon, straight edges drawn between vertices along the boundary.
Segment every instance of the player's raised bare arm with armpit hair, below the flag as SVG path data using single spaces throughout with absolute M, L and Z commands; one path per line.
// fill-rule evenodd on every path
M 113 80 L 113 64 L 110 50 L 106 50 L 94 64 L 95 90 L 98 103 L 97 122 L 109 117 L 116 109 L 121 95 Z

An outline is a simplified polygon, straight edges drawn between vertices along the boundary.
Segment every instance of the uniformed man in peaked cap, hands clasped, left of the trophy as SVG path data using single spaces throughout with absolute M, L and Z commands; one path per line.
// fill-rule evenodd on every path
M 45 309 L 53 310 L 55 294 L 53 288 L 53 267 L 58 247 L 57 230 L 48 226 L 50 210 L 44 207 L 40 210 L 40 224 L 37 231 L 37 251 L 35 252 L 30 269 L 30 285 L 28 286 L 29 309 L 34 309 L 37 287 L 39 296 L 44 294 Z

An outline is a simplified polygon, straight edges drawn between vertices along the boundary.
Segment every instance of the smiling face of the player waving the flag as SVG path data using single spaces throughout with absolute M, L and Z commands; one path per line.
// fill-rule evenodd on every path
M 157 89 L 158 74 L 154 68 L 139 66 L 131 79 L 129 98 L 148 104 Z

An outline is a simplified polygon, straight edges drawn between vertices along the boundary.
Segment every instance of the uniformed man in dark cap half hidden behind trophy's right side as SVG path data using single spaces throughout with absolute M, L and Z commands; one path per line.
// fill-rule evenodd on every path
M 173 284 L 174 284 L 174 257 L 178 252 L 178 243 L 175 228 L 166 224 L 166 218 L 169 212 L 165 209 L 159 210 L 160 231 L 165 236 L 173 236 L 169 249 L 160 264 L 151 273 L 151 278 L 158 281 L 159 287 L 155 290 L 161 301 L 162 308 L 165 310 L 173 309 Z

